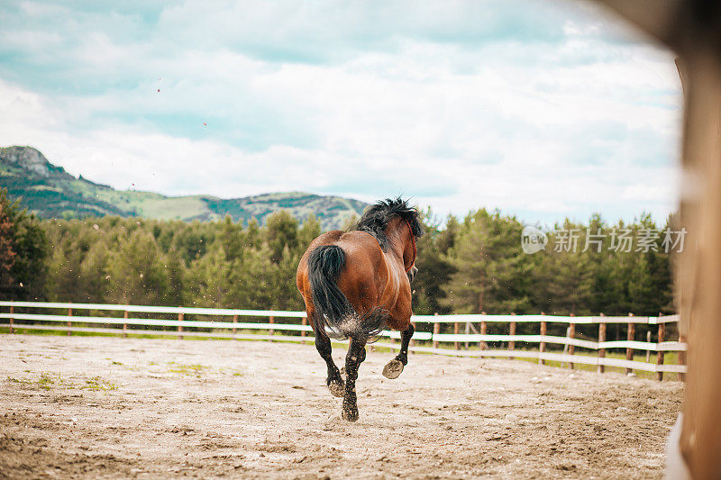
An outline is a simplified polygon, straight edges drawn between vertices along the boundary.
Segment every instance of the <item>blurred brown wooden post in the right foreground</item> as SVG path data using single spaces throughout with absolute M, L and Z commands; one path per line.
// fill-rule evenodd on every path
M 680 450 L 693 478 L 721 478 L 721 4 L 596 1 L 680 55 L 683 181 L 674 230 L 689 234 L 676 250 L 679 331 L 689 346 Z

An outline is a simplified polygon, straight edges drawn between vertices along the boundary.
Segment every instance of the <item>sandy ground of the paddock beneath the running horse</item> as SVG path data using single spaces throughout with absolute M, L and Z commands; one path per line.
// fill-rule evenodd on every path
M 662 475 L 678 382 L 419 354 L 388 380 L 390 358 L 350 424 L 310 344 L 0 335 L 0 477 Z

